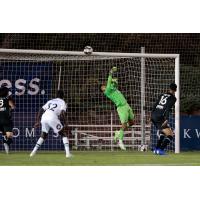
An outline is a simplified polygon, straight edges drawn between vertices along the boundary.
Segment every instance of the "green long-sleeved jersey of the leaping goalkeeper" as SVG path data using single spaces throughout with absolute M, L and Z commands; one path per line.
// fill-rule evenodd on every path
M 115 83 L 112 83 L 112 76 L 108 76 L 108 82 L 104 94 L 117 106 L 127 104 L 124 95 L 117 89 Z

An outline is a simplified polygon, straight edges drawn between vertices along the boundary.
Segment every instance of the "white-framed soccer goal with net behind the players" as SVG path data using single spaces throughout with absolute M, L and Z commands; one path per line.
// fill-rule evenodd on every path
M 68 137 L 74 150 L 117 150 L 114 131 L 120 121 L 114 105 L 102 94 L 100 85 L 116 66 L 119 90 L 135 112 L 135 125 L 125 132 L 128 150 L 140 145 L 150 149 L 157 131 L 149 123 L 154 101 L 171 82 L 178 91 L 170 116 L 175 141 L 170 150 L 179 152 L 179 55 L 0 49 L 0 86 L 10 88 L 16 101 L 13 150 L 31 150 L 40 135 L 34 129 L 37 111 L 54 98 L 57 89 L 65 92 Z M 51 133 L 43 150 L 62 150 L 58 135 Z

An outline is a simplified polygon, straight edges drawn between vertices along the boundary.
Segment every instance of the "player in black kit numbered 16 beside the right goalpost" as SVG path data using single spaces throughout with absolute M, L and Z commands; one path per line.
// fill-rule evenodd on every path
M 172 107 L 176 103 L 176 90 L 177 85 L 171 83 L 169 91 L 159 96 L 152 109 L 151 121 L 159 130 L 160 135 L 154 149 L 154 153 L 158 155 L 165 155 L 165 148 L 173 140 L 173 130 L 168 124 L 168 118 Z

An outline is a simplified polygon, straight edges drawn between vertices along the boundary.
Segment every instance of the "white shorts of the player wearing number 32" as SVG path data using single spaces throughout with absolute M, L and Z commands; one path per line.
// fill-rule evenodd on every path
M 42 132 L 49 133 L 50 128 L 53 129 L 54 133 L 58 133 L 62 130 L 63 125 L 57 117 L 45 118 L 41 119 L 42 124 Z

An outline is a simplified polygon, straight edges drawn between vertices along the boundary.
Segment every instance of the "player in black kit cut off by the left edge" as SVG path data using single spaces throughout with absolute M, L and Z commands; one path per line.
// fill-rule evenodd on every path
M 3 144 L 6 153 L 9 153 L 9 147 L 12 143 L 13 122 L 11 110 L 15 108 L 13 99 L 9 96 L 9 90 L 6 87 L 0 88 L 0 132 L 3 134 Z

